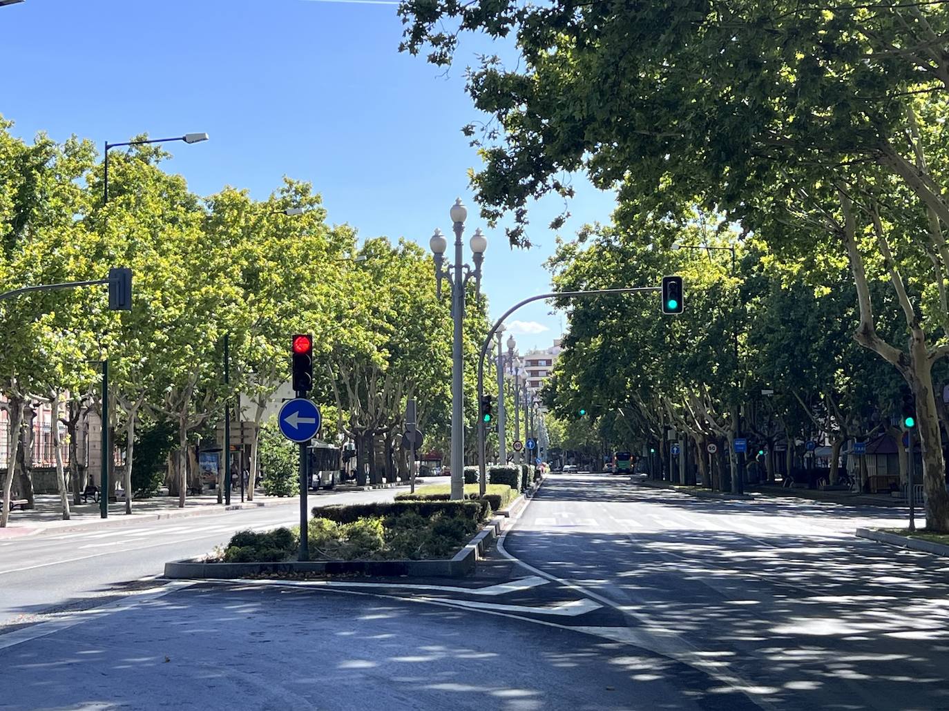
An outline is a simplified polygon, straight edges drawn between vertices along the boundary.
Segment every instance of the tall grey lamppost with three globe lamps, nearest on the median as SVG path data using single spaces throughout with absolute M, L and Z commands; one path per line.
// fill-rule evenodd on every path
M 457 198 L 455 205 L 450 211 L 452 218 L 452 228 L 455 231 L 455 263 L 448 268 L 442 268 L 444 263 L 445 248 L 448 241 L 442 235 L 440 229 L 435 230 L 429 246 L 432 247 L 432 253 L 435 255 L 435 276 L 437 283 L 437 293 L 441 296 L 441 281 L 447 279 L 452 289 L 452 319 L 454 321 L 454 336 L 452 338 L 452 499 L 460 500 L 464 498 L 465 488 L 465 422 L 464 422 L 464 403 L 462 400 L 462 328 L 465 318 L 465 287 L 468 280 L 474 277 L 475 293 L 481 290 L 481 262 L 484 260 L 484 251 L 488 248 L 488 239 L 481 234 L 480 229 L 474 230 L 471 239 L 472 258 L 474 260 L 474 270 L 463 264 L 461 259 L 461 235 L 465 231 L 465 219 L 468 217 L 468 210 L 461 203 L 461 198 Z M 480 393 L 478 393 L 480 396 Z M 478 428 L 484 428 L 484 422 L 480 422 Z M 484 483 L 482 483 L 482 486 Z

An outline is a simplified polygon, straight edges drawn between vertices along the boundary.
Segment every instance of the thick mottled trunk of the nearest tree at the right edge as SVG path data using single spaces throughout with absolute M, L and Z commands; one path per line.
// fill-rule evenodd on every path
M 946 491 L 945 460 L 942 458 L 940 418 L 933 391 L 932 363 L 921 338 L 910 342 L 913 394 L 916 396 L 917 431 L 922 451 L 922 490 L 926 495 L 926 528 L 949 531 L 949 492 Z M 913 452 L 909 453 L 912 458 Z M 912 462 L 912 459 L 910 459 Z M 910 494 L 912 495 L 912 494 Z

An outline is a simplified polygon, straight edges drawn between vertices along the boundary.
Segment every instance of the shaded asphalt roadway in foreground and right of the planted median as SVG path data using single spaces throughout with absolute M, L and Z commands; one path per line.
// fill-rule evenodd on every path
M 0 708 L 949 709 L 949 565 L 852 536 L 899 513 L 553 476 L 472 578 L 40 615 L 0 634 Z

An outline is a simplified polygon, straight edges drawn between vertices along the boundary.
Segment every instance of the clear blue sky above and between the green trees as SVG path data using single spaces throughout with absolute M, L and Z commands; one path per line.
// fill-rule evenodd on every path
M 329 219 L 361 236 L 407 237 L 428 245 L 449 233 L 456 196 L 469 206 L 468 233 L 490 245 L 483 288 L 499 316 L 546 290 L 547 225 L 557 199 L 531 211 L 530 250 L 511 249 L 487 229 L 468 189 L 479 165 L 460 128 L 481 118 L 464 91 L 477 52 L 511 55 L 483 37 L 462 46 L 447 75 L 400 54 L 401 22 L 391 5 L 314 0 L 27 0 L 0 8 L 0 114 L 16 134 L 45 130 L 124 140 L 206 131 L 177 143 L 169 170 L 192 190 L 224 185 L 266 197 L 282 176 L 310 180 Z M 613 196 L 577 176 L 572 218 L 560 234 L 606 221 Z M 503 226 L 501 226 L 503 227 Z M 467 239 L 466 239 L 467 242 Z M 540 303 L 512 319 L 519 350 L 547 346 L 562 320 Z M 565 321 L 566 322 L 566 321 Z M 546 330 L 542 330 L 546 329 Z

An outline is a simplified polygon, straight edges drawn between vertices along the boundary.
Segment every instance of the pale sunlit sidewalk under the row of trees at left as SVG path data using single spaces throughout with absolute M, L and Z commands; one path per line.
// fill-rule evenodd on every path
M 188 516 L 202 516 L 219 514 L 222 511 L 236 511 L 259 506 L 299 505 L 299 497 L 265 496 L 254 492 L 253 501 L 241 503 L 240 492 L 231 496 L 231 505 L 219 504 L 216 492 L 190 496 L 185 500 L 184 508 L 178 507 L 177 497 L 157 496 L 151 499 L 132 501 L 132 513 L 125 514 L 125 502 L 109 503 L 109 518 L 102 519 L 99 504 L 89 501 L 74 505 L 69 501 L 69 520 L 63 520 L 63 509 L 57 494 L 38 494 L 36 508 L 26 511 L 9 512 L 7 528 L 0 528 L 0 539 L 19 538 L 42 533 L 59 533 L 63 531 L 88 530 L 90 527 L 104 527 L 123 524 L 140 523 L 144 520 L 177 519 Z M 310 492 L 310 498 L 320 496 L 317 492 Z

